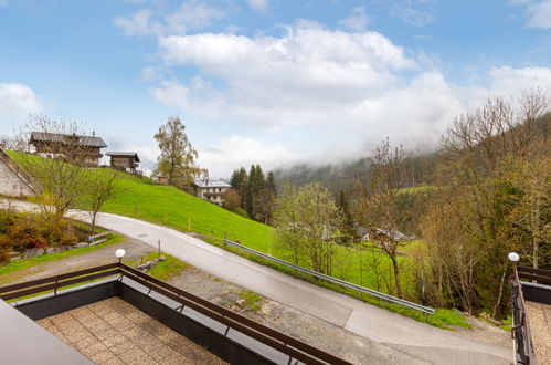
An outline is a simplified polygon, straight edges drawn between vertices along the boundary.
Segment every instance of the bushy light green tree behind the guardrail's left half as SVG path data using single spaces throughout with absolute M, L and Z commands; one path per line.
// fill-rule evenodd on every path
M 274 216 L 278 244 L 292 252 L 295 263 L 306 259 L 312 270 L 331 274 L 339 209 L 329 190 L 319 182 L 298 189 L 287 185 Z

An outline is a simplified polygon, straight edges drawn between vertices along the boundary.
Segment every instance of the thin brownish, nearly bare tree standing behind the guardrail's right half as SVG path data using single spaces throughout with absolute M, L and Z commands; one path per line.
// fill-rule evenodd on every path
M 403 168 L 404 157 L 403 147 L 392 147 L 388 138 L 375 148 L 367 177 L 368 185 L 360 179 L 357 182 L 359 197 L 356 207 L 357 220 L 375 232 L 371 234 L 372 241 L 392 261 L 399 298 L 403 294 L 398 250 L 410 243 L 401 237 L 400 231 L 411 219 L 411 212 L 401 207 L 399 196 L 399 189 L 403 188 L 407 180 Z

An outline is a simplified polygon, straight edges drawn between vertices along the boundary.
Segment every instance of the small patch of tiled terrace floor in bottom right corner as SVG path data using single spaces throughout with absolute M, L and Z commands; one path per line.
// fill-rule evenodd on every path
M 551 305 L 526 302 L 538 364 L 551 365 Z

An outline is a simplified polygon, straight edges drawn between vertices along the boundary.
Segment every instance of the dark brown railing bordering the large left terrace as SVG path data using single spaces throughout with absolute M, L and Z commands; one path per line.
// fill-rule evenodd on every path
M 184 306 L 188 306 L 226 325 L 225 335 L 227 335 L 230 328 L 233 328 L 256 341 L 259 341 L 261 343 L 264 343 L 267 346 L 278 350 L 289 356 L 289 364 L 292 361 L 299 361 L 305 364 L 350 364 L 295 337 L 267 327 L 225 307 L 211 303 L 179 288 L 172 286 L 159 279 L 145 274 L 139 270 L 118 262 L 3 286 L 0 288 L 0 299 L 20 299 L 27 295 L 49 291 L 54 291 L 54 294 L 56 294 L 57 290 L 61 288 L 115 274 L 126 277 L 146 288 L 149 288 L 150 291 L 160 293 L 166 298 L 180 303 L 181 306 L 178 307 L 180 312 Z

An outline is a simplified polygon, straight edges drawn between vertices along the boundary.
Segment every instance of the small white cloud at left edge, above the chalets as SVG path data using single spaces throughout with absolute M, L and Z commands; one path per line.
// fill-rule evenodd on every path
M 0 117 L 23 118 L 43 111 L 31 87 L 17 83 L 0 83 Z

